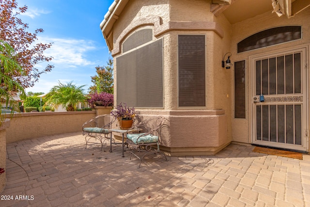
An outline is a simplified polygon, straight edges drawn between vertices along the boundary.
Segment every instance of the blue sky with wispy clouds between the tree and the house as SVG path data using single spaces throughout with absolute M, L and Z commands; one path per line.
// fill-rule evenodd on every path
M 93 85 L 91 76 L 96 75 L 95 67 L 107 65 L 109 49 L 100 30 L 100 23 L 114 0 L 17 0 L 18 6 L 28 6 L 22 16 L 29 24 L 28 32 L 42 28 L 39 42 L 53 42 L 45 50 L 46 56 L 54 59 L 51 72 L 42 74 L 34 87 L 26 92 L 48 91 L 58 82 L 73 81 L 84 87 L 85 92 Z M 38 69 L 44 64 L 36 65 Z

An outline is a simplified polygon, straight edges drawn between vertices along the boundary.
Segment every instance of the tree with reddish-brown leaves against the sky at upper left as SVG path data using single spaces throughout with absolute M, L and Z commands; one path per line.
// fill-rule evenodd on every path
M 43 29 L 37 29 L 35 32 L 27 32 L 28 24 L 23 23 L 17 16 L 27 11 L 27 6 L 17 9 L 16 0 L 0 0 L 0 39 L 10 44 L 16 51 L 16 61 L 23 68 L 23 73 L 14 71 L 11 74 L 12 79 L 20 83 L 24 88 L 34 85 L 42 73 L 50 71 L 54 66 L 47 65 L 43 71 L 35 68 L 36 64 L 48 62 L 52 57 L 46 57 L 43 52 L 50 48 L 52 43 L 42 44 L 38 40 L 37 34 L 43 32 Z M 1 68 L 2 69 L 2 68 Z

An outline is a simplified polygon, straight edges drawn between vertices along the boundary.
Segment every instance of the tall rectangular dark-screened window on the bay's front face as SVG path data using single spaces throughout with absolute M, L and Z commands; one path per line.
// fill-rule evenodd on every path
M 205 35 L 178 36 L 179 107 L 205 106 Z

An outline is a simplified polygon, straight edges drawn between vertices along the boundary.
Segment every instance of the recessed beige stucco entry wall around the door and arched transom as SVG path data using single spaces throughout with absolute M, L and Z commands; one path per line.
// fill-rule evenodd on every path
M 232 133 L 233 141 L 241 143 L 251 143 L 251 77 L 250 70 L 252 70 L 249 63 L 249 56 L 259 55 L 264 53 L 270 53 L 277 50 L 285 50 L 287 48 L 298 47 L 301 45 L 310 43 L 310 8 L 305 9 L 298 15 L 287 18 L 286 16 L 278 17 L 275 13 L 272 14 L 271 11 L 264 13 L 260 16 L 256 16 L 250 19 L 247 19 L 242 22 L 238 22 L 232 25 L 232 44 L 231 51 L 233 53 L 232 61 L 241 61 L 246 60 L 246 98 L 247 98 L 247 118 L 246 119 L 234 119 L 233 118 L 233 104 L 232 104 Z M 242 52 L 237 54 L 237 43 L 241 40 L 247 38 L 248 36 L 260 32 L 269 28 L 285 26 L 285 25 L 301 25 L 302 26 L 302 39 L 295 40 L 288 43 L 283 43 L 279 45 L 274 45 L 266 48 L 259 48 L 247 52 Z M 309 53 L 307 54 L 309 56 Z M 307 59 L 309 61 L 309 57 Z M 308 77 L 309 79 L 309 77 Z M 231 74 L 231 82 L 233 84 L 233 70 Z M 309 84 L 308 84 L 309 86 Z M 310 91 L 310 90 L 308 90 Z M 233 94 L 233 87 L 231 88 L 231 94 Z M 233 103 L 233 96 L 231 97 Z M 309 127 L 308 127 L 309 128 Z

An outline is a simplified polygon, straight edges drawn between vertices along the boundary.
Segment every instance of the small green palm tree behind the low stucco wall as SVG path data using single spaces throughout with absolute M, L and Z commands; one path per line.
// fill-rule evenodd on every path
M 67 111 L 77 111 L 78 102 L 85 101 L 84 89 L 82 89 L 84 86 L 78 87 L 73 84 L 73 81 L 66 84 L 59 82 L 48 92 L 46 105 L 50 104 L 52 107 L 61 105 Z

